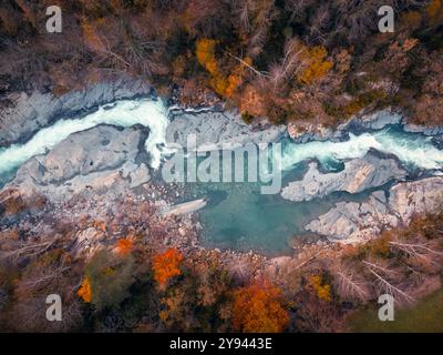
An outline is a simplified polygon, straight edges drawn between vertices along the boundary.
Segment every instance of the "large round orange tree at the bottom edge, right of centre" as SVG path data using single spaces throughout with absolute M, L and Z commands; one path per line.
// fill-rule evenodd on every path
M 256 282 L 234 294 L 233 325 L 246 333 L 279 333 L 289 323 L 281 291 L 268 281 Z

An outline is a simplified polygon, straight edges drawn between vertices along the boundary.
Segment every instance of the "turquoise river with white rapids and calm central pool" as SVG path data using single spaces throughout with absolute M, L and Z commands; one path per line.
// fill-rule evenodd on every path
M 31 156 L 51 150 L 70 134 L 99 124 L 150 128 L 145 149 L 151 154 L 151 168 L 158 170 L 172 151 L 166 144 L 168 110 L 159 100 L 122 100 L 101 106 L 79 118 L 61 118 L 51 126 L 41 129 L 29 141 L 0 148 L 0 184 L 11 180 L 17 169 Z M 395 155 L 412 173 L 440 173 L 443 151 L 432 136 L 406 133 L 401 126 L 387 126 L 374 132 L 349 134 L 343 142 L 315 141 L 282 142 L 281 166 L 285 183 L 298 180 L 307 162 L 317 160 L 326 171 L 338 171 L 346 160 L 362 158 L 377 150 Z M 337 201 L 363 199 L 334 193 L 322 200 L 288 202 L 279 194 L 261 195 L 258 183 L 189 183 L 184 199 L 208 196 L 209 204 L 200 211 L 204 225 L 202 243 L 222 248 L 256 250 L 267 254 L 281 254 L 290 250 L 293 235 L 303 234 L 303 225 L 328 211 Z

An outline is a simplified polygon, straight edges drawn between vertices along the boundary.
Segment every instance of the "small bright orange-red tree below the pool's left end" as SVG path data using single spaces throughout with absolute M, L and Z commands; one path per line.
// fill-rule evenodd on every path
M 166 286 L 172 277 L 182 275 L 179 268 L 182 261 L 183 255 L 175 247 L 153 257 L 154 280 L 158 282 L 161 287 Z

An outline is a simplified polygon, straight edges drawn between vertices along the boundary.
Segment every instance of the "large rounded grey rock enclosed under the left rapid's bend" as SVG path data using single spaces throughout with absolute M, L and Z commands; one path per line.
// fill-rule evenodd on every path
M 146 164 L 136 163 L 146 136 L 140 128 L 109 125 L 71 134 L 48 154 L 27 161 L 7 187 L 24 196 L 39 193 L 53 202 L 91 189 L 117 194 L 136 187 L 150 180 Z

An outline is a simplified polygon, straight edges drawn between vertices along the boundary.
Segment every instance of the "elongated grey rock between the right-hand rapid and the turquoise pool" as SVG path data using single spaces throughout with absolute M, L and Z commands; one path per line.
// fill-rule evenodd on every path
M 380 158 L 373 153 L 346 162 L 344 169 L 338 173 L 323 174 L 318 164 L 312 162 L 303 179 L 289 183 L 282 189 L 281 196 L 290 201 L 310 201 L 336 191 L 358 193 L 406 175 L 408 172 L 396 160 Z

